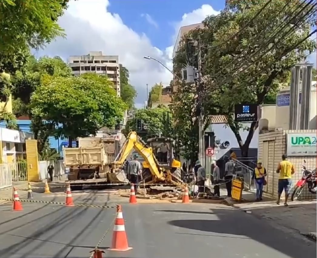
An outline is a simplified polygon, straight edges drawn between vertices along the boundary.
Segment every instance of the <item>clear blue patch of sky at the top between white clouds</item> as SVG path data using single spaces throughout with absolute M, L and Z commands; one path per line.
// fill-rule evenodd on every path
M 215 10 L 224 8 L 224 0 L 110 0 L 108 10 L 120 14 L 125 24 L 137 33 L 145 33 L 153 45 L 164 49 L 174 42 L 171 35 L 175 33 L 175 23 L 181 17 L 209 4 Z M 155 24 L 150 24 L 145 15 L 151 16 Z

